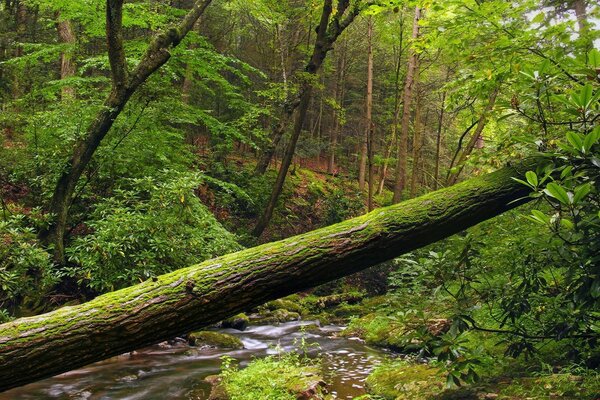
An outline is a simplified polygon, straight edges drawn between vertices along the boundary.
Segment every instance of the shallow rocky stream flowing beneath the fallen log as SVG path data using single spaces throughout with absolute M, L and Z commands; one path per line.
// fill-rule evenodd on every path
M 209 375 L 219 373 L 221 356 L 245 366 L 254 357 L 293 351 L 302 338 L 310 352 L 321 356 L 329 393 L 336 399 L 352 399 L 365 393 L 365 379 L 386 353 L 358 340 L 335 336 L 342 327 L 323 326 L 305 332 L 315 321 L 250 326 L 244 332 L 221 332 L 239 337 L 242 350 L 199 349 L 181 341 L 138 350 L 85 368 L 0 393 L 0 400 L 153 400 L 208 399 Z M 317 345 L 310 345 L 316 343 Z

